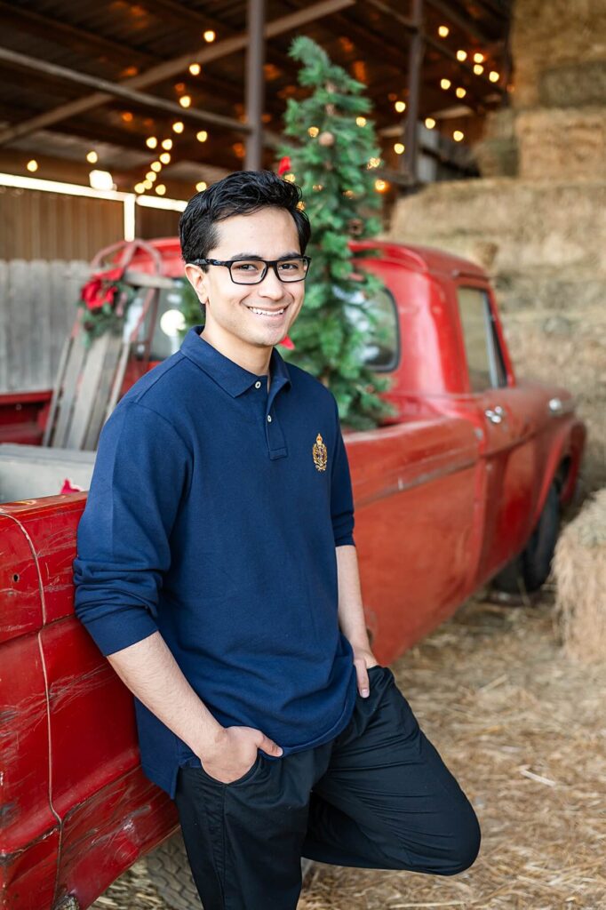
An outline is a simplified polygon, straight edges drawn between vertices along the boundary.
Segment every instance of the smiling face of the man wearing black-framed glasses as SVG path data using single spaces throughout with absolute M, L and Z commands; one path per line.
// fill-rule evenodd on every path
M 217 228 L 219 242 L 209 250 L 209 259 L 300 255 L 297 227 L 283 208 L 265 207 L 249 215 L 233 215 L 219 221 Z M 186 273 L 199 300 L 207 305 L 206 324 L 211 331 L 219 330 L 254 347 L 276 345 L 288 335 L 303 304 L 305 281 L 282 282 L 273 268 L 268 268 L 259 284 L 239 285 L 231 280 L 225 266 L 207 269 L 203 272 L 188 265 Z M 253 308 L 265 312 L 256 313 Z

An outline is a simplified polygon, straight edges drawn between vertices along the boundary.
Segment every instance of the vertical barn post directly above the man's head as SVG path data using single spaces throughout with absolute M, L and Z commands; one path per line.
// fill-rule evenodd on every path
M 265 0 L 248 0 L 247 48 L 247 170 L 260 170 L 263 156 L 263 64 Z

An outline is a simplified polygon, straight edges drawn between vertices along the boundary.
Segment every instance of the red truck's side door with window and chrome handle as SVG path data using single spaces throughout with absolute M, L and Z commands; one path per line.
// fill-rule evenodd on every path
M 530 535 L 537 466 L 529 410 L 516 387 L 488 289 L 461 278 L 457 300 L 470 418 L 480 438 L 478 490 L 484 522 L 477 577 L 485 581 Z

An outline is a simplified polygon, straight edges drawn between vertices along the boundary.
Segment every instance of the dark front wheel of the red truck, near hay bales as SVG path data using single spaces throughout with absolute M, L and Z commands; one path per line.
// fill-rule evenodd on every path
M 559 530 L 560 493 L 554 481 L 530 540 L 521 553 L 495 575 L 493 586 L 507 594 L 538 591 L 549 578 Z

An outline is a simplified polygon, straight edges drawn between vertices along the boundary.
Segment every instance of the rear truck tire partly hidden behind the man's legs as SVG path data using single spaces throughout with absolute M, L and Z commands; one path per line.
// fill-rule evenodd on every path
M 173 834 L 146 856 L 147 875 L 156 888 L 167 910 L 196 910 L 201 907 L 196 885 L 189 869 L 185 844 L 181 832 Z M 311 871 L 313 863 L 301 859 L 303 881 Z

